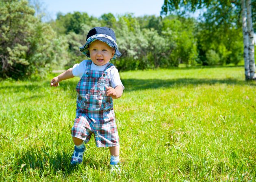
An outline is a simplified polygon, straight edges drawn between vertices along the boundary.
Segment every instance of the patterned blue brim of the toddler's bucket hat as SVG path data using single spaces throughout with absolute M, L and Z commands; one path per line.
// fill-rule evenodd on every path
M 100 40 L 102 42 L 105 42 L 106 44 L 108 44 L 109 47 L 113 47 L 115 49 L 115 54 L 112 59 L 117 59 L 118 57 L 121 56 L 121 53 L 117 49 L 117 46 L 114 42 L 112 42 L 108 38 L 98 37 L 98 38 L 94 38 L 94 39 L 90 40 L 89 42 L 86 42 L 86 44 L 84 46 L 80 47 L 80 51 L 87 57 L 90 57 L 89 45 L 91 44 L 91 42 L 94 42 L 95 40 Z

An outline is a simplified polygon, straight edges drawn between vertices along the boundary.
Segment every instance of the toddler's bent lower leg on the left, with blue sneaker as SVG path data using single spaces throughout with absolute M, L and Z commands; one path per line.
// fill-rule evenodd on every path
M 72 154 L 70 163 L 72 165 L 76 165 L 77 163 L 78 164 L 82 163 L 82 156 L 85 152 L 85 145 L 83 140 L 81 140 L 80 138 L 76 138 L 76 137 L 72 137 L 72 138 L 73 138 L 75 147 L 74 147 L 74 152 Z

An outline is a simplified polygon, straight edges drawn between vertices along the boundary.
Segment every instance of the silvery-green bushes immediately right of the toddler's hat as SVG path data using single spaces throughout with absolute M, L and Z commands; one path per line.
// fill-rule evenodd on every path
M 160 36 L 156 30 L 142 29 L 137 19 L 130 15 L 119 17 L 116 30 L 117 42 L 122 57 L 113 60 L 120 70 L 143 70 L 168 67 L 171 42 Z M 131 23 L 132 22 L 132 23 Z

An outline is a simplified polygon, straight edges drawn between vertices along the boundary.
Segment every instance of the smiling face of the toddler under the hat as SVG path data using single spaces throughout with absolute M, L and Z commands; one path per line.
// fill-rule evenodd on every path
M 100 40 L 95 40 L 89 46 L 91 60 L 95 65 L 103 66 L 113 58 L 115 50 Z

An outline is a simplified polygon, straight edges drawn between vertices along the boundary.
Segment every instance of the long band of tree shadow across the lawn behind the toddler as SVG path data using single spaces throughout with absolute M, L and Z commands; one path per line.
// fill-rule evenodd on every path
M 206 78 L 177 78 L 177 79 L 122 79 L 122 83 L 126 88 L 125 91 L 135 91 L 143 89 L 158 89 L 158 88 L 171 88 L 171 87 L 187 87 L 188 85 L 214 85 L 214 84 L 227 84 L 227 85 L 251 85 L 256 86 L 256 81 L 244 81 L 236 80 L 232 78 L 227 79 L 206 79 Z M 59 89 L 64 91 L 75 91 L 77 80 L 65 80 L 59 85 Z M 30 92 L 44 89 L 56 89 L 55 87 L 50 88 L 50 83 L 45 81 L 41 84 L 27 84 L 27 85 L 9 85 L 0 86 L 0 92 L 2 90 L 9 89 L 10 92 Z M 33 99 L 33 97 L 32 97 Z

